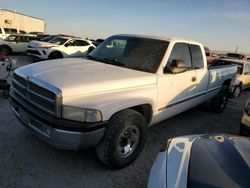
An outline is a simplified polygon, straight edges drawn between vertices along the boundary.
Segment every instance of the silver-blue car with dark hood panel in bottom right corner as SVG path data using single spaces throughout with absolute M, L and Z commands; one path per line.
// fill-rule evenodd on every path
M 191 135 L 168 141 L 148 188 L 250 187 L 250 138 Z

